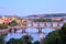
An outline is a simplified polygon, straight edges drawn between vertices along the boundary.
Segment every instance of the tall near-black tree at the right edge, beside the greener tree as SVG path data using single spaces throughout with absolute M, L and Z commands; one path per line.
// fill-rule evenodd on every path
M 66 44 L 66 23 L 64 23 L 62 30 L 59 31 L 59 36 L 63 44 Z

